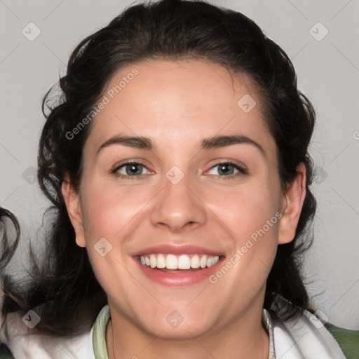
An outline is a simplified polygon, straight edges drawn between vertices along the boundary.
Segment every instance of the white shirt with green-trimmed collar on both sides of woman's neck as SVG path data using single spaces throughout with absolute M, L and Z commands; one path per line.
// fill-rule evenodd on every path
M 10 313 L 6 325 L 11 339 L 6 341 L 0 332 L 0 341 L 15 359 L 108 359 L 105 333 L 109 318 L 107 305 L 88 332 L 64 338 L 35 333 L 17 312 Z M 309 311 L 297 320 L 283 321 L 264 309 L 262 320 L 269 332 L 269 359 L 345 359 L 337 341 Z

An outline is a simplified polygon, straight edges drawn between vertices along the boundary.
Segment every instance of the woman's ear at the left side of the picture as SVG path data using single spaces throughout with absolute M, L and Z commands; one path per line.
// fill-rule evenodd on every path
M 68 173 L 66 173 L 64 180 L 62 181 L 61 192 L 65 200 L 69 219 L 76 233 L 76 243 L 79 247 L 85 247 L 86 243 L 83 231 L 80 196 L 74 191 Z

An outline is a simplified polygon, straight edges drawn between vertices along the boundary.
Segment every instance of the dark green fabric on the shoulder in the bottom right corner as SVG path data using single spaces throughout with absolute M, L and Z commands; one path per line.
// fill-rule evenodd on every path
M 339 344 L 346 359 L 359 359 L 359 330 L 349 330 L 325 323 L 325 327 Z

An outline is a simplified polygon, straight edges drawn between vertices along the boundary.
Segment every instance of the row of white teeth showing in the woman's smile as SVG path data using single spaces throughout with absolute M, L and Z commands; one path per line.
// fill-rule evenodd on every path
M 219 261 L 219 256 L 210 255 L 142 255 L 141 264 L 151 268 L 167 269 L 191 269 L 205 268 L 215 265 Z

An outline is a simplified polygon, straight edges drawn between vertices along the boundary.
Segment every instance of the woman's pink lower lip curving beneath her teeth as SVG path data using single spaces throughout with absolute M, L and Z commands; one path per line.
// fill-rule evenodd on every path
M 183 272 L 164 272 L 158 271 L 158 269 L 152 269 L 149 266 L 144 266 L 137 259 L 137 265 L 140 266 L 142 272 L 151 280 L 161 285 L 167 286 L 186 286 L 199 283 L 210 277 L 211 274 L 217 271 L 219 264 L 222 263 L 223 258 L 220 257 L 219 261 L 210 266 L 209 268 L 194 270 L 194 271 L 183 271 Z

